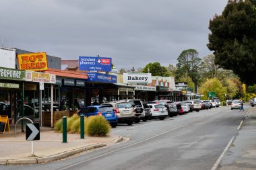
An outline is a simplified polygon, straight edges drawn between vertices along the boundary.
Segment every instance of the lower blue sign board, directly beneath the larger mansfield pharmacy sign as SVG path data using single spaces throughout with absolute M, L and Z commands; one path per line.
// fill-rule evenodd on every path
M 87 81 L 96 81 L 101 83 L 117 83 L 117 76 L 106 75 L 102 73 L 88 73 Z

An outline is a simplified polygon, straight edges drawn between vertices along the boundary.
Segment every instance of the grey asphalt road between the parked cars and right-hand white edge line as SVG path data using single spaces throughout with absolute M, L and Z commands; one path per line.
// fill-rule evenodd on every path
M 183 116 L 150 120 L 112 129 L 130 138 L 69 159 L 0 169 L 212 169 L 233 136 L 245 112 L 212 108 Z

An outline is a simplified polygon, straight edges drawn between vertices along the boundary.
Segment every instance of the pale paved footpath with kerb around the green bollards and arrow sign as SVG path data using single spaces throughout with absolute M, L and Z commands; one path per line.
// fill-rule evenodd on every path
M 43 127 L 40 140 L 34 140 L 34 157 L 32 157 L 32 142 L 26 140 L 26 132 L 21 128 L 10 127 L 11 133 L 0 134 L 0 164 L 30 164 L 46 163 L 65 159 L 71 155 L 89 151 L 95 148 L 110 146 L 123 140 L 122 136 L 109 134 L 105 137 L 80 138 L 80 134 L 67 134 L 67 143 L 63 143 L 63 134 Z

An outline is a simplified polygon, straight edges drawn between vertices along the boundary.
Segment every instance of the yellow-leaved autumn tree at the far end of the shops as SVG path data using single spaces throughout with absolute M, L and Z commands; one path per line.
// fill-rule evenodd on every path
M 215 91 L 216 97 L 219 97 L 221 101 L 224 100 L 224 95 L 227 93 L 227 88 L 223 87 L 221 81 L 219 81 L 216 77 L 213 79 L 206 79 L 205 83 L 203 83 L 199 87 L 199 93 L 204 95 L 202 99 L 208 99 L 207 92 Z

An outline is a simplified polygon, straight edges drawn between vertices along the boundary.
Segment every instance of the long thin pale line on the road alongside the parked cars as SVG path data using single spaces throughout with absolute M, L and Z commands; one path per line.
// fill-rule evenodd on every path
M 60 168 L 59 170 L 69 169 L 69 168 L 74 167 L 74 166 L 76 166 L 76 165 L 79 165 L 79 164 L 81 164 L 81 163 L 86 163 L 86 162 L 88 162 L 88 161 L 92 161 L 92 160 L 94 160 L 94 159 L 97 159 L 97 158 L 99 158 L 99 157 L 103 157 L 103 156 L 108 155 L 108 154 L 110 154 L 110 153 L 115 153 L 116 151 L 120 151 L 120 150 L 122 150 L 122 149 L 124 149 L 124 148 L 129 148 L 130 146 L 133 146 L 133 145 L 135 145 L 135 144 L 139 144 L 139 143 L 141 143 L 141 142 L 145 142 L 145 141 L 150 140 L 150 139 L 152 139 L 152 138 L 156 138 L 156 137 L 158 137 L 158 136 L 161 136 L 162 134 L 166 134 L 166 133 L 168 133 L 168 132 L 172 132 L 173 130 L 177 130 L 177 129 L 179 129 L 179 128 L 183 128 L 183 127 L 185 127 L 185 126 L 188 126 L 189 124 L 193 124 L 193 123 L 195 123 L 195 122 L 199 122 L 199 121 L 201 121 L 201 120 L 203 120 L 203 119 L 205 119 L 205 118 L 200 118 L 200 119 L 198 119 L 198 120 L 191 121 L 191 122 L 189 122 L 189 123 L 187 123 L 187 124 L 184 124 L 183 126 L 179 126 L 179 127 L 177 127 L 177 128 L 173 128 L 173 129 L 171 129 L 171 130 L 167 130 L 166 132 L 162 132 L 162 133 L 160 133 L 160 134 L 156 134 L 156 135 L 154 135 L 154 136 L 151 136 L 150 138 L 146 138 L 146 139 L 144 139 L 144 140 L 140 140 L 139 142 L 135 142 L 135 143 L 133 143 L 133 144 L 129 144 L 129 145 L 127 145 L 127 146 L 123 146 L 123 147 L 121 147 L 121 148 L 117 148 L 117 149 L 115 149 L 115 150 L 113 150 L 113 151 L 109 151 L 109 152 L 107 152 L 107 153 L 103 153 L 102 155 L 98 155 L 98 156 L 92 157 L 92 158 L 90 158 L 90 159 L 86 159 L 86 160 L 83 160 L 83 161 L 79 161 L 79 162 L 77 162 L 77 163 L 73 163 L 73 164 L 71 164 L 71 165 L 69 165 L 69 166 L 65 166 L 65 167 L 63 167 L 63 168 Z

